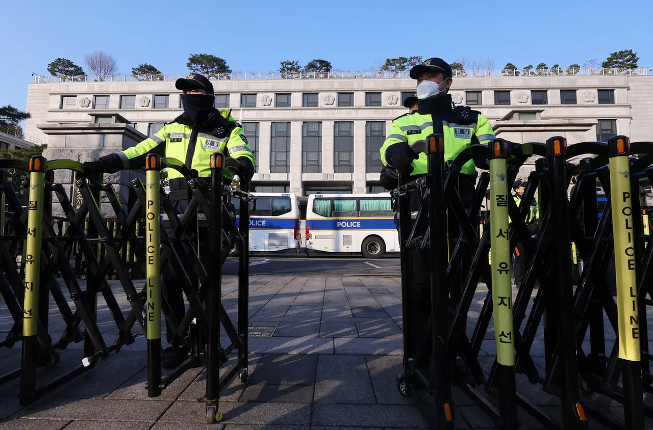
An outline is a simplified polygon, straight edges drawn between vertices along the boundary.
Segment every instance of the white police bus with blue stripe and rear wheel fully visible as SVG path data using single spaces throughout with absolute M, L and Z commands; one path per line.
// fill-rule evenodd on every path
M 399 251 L 390 193 L 311 194 L 306 207 L 306 248 L 379 258 Z

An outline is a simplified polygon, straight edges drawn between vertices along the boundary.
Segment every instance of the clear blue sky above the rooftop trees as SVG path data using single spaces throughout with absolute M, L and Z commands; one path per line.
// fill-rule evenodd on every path
M 622 7 L 622 6 L 626 7 Z M 544 62 L 599 63 L 633 49 L 653 67 L 653 2 L 613 1 L 12 1 L 0 25 L 0 106 L 22 110 L 30 72 L 56 57 L 84 67 L 104 50 L 120 72 L 151 63 L 185 73 L 189 54 L 214 54 L 234 71 L 271 71 L 313 58 L 364 70 L 376 59 L 422 55 L 494 58 L 495 69 Z M 611 18 L 613 22 L 607 20 Z

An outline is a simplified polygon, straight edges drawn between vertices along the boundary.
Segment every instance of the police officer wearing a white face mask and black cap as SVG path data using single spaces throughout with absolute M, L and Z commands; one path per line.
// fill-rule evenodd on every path
M 449 88 L 453 83 L 451 66 L 440 58 L 429 58 L 416 65 L 410 71 L 410 77 L 417 82 L 417 112 L 397 118 L 390 127 L 388 136 L 381 147 L 381 161 L 385 166 L 396 168 L 414 181 L 427 173 L 426 155 L 415 158 L 411 145 L 425 140 L 432 133 L 444 137 L 445 161 L 453 160 L 463 149 L 472 144 L 488 144 L 494 136 L 490 122 L 480 112 L 468 107 L 453 106 Z M 409 177 L 408 177 L 409 176 Z M 473 201 L 476 169 L 473 161 L 466 163 L 457 184 L 458 194 L 463 204 L 468 207 Z M 426 202 L 425 202 L 426 204 Z M 417 211 L 419 199 L 411 198 L 411 210 Z M 455 217 L 449 216 L 449 238 L 458 238 L 459 226 Z M 417 227 L 416 236 L 426 232 L 426 217 Z M 421 342 L 427 330 L 428 316 L 431 311 L 430 279 L 428 251 L 420 253 L 411 248 L 413 271 L 413 296 L 416 328 L 416 348 L 421 349 Z M 433 252 L 447 250 L 434 249 Z M 466 264 L 469 264 L 467 262 Z M 464 271 L 466 273 L 466 271 Z

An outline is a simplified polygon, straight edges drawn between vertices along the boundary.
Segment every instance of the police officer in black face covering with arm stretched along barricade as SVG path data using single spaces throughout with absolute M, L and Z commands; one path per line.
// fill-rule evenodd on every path
M 211 170 L 209 161 L 212 153 L 220 152 L 238 160 L 240 172 L 238 175 L 251 179 L 254 174 L 254 156 L 251 152 L 245 133 L 234 118 L 231 110 L 217 110 L 214 107 L 215 95 L 210 80 L 201 74 L 190 74 L 187 78 L 180 78 L 175 83 L 176 89 L 183 92 L 181 96 L 183 114 L 171 123 L 166 124 L 154 136 L 148 138 L 134 147 L 106 155 L 97 161 L 86 162 L 86 166 L 95 172 L 115 173 L 122 169 L 138 169 L 144 167 L 147 153 L 158 153 L 161 157 L 178 159 L 186 166 L 197 170 L 200 181 L 209 181 Z M 174 169 L 168 169 L 170 179 L 170 194 L 168 198 L 178 214 L 182 214 L 188 206 L 187 181 Z M 234 174 L 225 170 L 225 183 L 231 183 Z M 168 236 L 173 230 L 169 221 L 164 221 L 164 228 Z M 208 225 L 199 225 L 200 258 L 208 262 L 209 246 Z M 181 247 L 180 247 L 181 248 Z M 191 268 L 189 255 L 183 249 L 175 249 L 180 256 L 185 268 Z M 182 296 L 183 281 L 177 276 L 170 264 L 162 268 L 163 293 L 170 305 L 172 314 L 177 324 L 185 314 L 184 299 Z M 172 341 L 172 326 L 166 318 L 166 335 L 168 343 Z M 183 361 L 183 339 L 170 345 L 165 350 L 163 367 L 168 369 L 177 367 Z

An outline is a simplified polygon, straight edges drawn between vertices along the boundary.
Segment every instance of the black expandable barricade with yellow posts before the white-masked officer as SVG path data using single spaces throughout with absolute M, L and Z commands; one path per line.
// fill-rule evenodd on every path
M 397 377 L 402 395 L 415 398 L 438 429 L 454 428 L 453 387 L 501 429 L 521 428 L 518 408 L 547 428 L 586 429 L 590 417 L 608 428 L 643 429 L 644 417 L 653 417 L 645 401 L 653 393 L 646 324 L 653 246 L 650 232 L 644 233 L 648 217 L 642 216 L 646 209 L 638 189 L 640 180 L 653 179 L 653 143 L 630 144 L 626 136 L 569 147 L 557 136 L 528 144 L 495 139 L 488 146 L 470 146 L 447 163 L 444 145 L 438 134 L 414 144 L 416 154 L 427 153 L 428 174 L 417 179 L 400 174 L 392 191 L 399 200 L 402 246 L 404 372 Z M 590 157 L 580 161 L 569 196 L 570 159 L 584 155 Z M 536 168 L 517 206 L 510 185 L 528 159 L 536 159 Z M 471 160 L 481 173 L 473 193 L 464 194 L 460 169 Z M 602 213 L 597 180 L 607 196 Z M 479 228 L 488 194 L 489 216 Z M 536 194 L 539 231 L 532 234 L 525 220 Z M 424 222 L 428 228 L 421 234 L 417 226 Z M 511 254 L 517 243 L 528 266 L 513 288 Z M 411 249 L 429 253 L 428 320 L 415 319 Z M 606 269 L 612 258 L 616 279 L 611 281 Z M 470 337 L 467 316 L 481 278 L 488 292 Z M 492 321 L 496 358 L 487 372 L 479 353 Z M 419 329 L 425 326 L 422 339 Z M 615 335 L 609 338 L 611 331 Z M 537 365 L 536 337 L 543 340 L 545 356 Z M 423 346 L 421 352 L 416 345 Z M 560 397 L 559 409 L 537 407 L 520 393 L 516 374 Z M 597 395 L 621 403 L 624 418 L 601 407 Z

